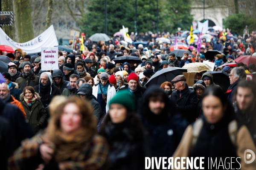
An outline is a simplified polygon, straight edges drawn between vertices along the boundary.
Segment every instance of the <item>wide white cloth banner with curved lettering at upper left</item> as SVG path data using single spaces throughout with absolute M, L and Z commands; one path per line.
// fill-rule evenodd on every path
M 38 37 L 35 37 L 33 40 L 23 43 L 13 41 L 10 37 L 8 37 L 8 35 L 6 35 L 2 28 L 0 28 L 0 45 L 8 45 L 15 49 L 21 48 L 28 54 L 33 54 L 40 53 L 42 47 L 57 46 L 58 40 L 52 25 Z

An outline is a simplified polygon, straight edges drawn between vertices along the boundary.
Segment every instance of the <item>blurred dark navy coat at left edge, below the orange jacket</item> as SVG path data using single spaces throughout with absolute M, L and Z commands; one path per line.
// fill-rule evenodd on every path
M 26 122 L 23 113 L 16 106 L 0 99 L 0 116 L 7 119 L 13 133 L 12 152 L 20 146 L 21 141 L 35 135 L 32 127 Z

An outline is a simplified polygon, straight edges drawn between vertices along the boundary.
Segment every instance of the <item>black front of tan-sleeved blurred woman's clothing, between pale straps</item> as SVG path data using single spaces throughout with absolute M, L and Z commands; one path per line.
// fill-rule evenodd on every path
M 229 123 L 232 120 L 236 119 L 235 113 L 231 105 L 228 106 L 227 111 L 224 114 L 224 117 L 215 124 L 209 124 L 204 118 L 204 116 L 202 116 L 204 124 L 198 136 L 197 142 L 193 146 L 192 152 L 189 155 L 189 157 L 207 158 L 204 159 L 204 169 L 207 169 L 208 165 L 210 164 L 208 162 L 208 157 L 212 158 L 212 160 L 215 160 L 217 158 L 217 162 L 219 162 L 220 159 L 222 159 L 223 161 L 227 157 L 238 157 L 236 154 L 237 149 L 231 142 L 228 131 Z M 241 125 L 238 124 L 237 129 L 239 130 L 240 127 Z M 223 161 L 223 164 L 226 164 L 226 167 L 229 166 L 229 163 L 227 162 L 228 161 Z M 199 161 L 197 163 L 199 163 Z M 238 164 L 237 161 L 234 161 L 234 163 L 232 163 L 232 168 L 239 169 L 239 167 L 240 165 Z M 221 167 L 220 169 L 222 168 L 223 167 Z

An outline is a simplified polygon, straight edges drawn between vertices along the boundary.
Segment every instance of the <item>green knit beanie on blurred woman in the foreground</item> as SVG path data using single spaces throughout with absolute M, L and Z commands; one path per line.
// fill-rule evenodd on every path
M 128 90 L 121 90 L 118 91 L 116 96 L 114 96 L 110 102 L 111 104 L 120 104 L 123 105 L 128 111 L 134 111 L 135 105 L 134 105 L 134 94 L 130 93 Z

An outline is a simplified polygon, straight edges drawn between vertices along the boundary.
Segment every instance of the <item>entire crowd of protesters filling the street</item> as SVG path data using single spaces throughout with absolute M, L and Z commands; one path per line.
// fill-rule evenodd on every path
M 171 40 L 166 33 L 140 34 L 137 40 L 146 45 L 127 46 L 117 37 L 105 45 L 83 34 L 84 52 L 79 39 L 73 54 L 58 51 L 54 71 L 42 71 L 40 55 L 17 48 L 7 55 L 13 61 L 8 72 L 1 73 L 6 80 L 0 84 L 1 167 L 142 170 L 145 157 L 173 156 L 240 157 L 233 168 L 255 169 L 256 161 L 244 162 L 244 151 L 256 153 L 256 81 L 246 80 L 256 66 L 221 65 L 243 55 L 256 57 L 256 35 L 245 31 L 235 42 L 224 38 L 231 32 L 216 34 L 209 42 L 202 40 L 200 52 L 190 44 L 192 55 L 182 57 L 167 42 L 155 40 Z M 215 71 L 230 75 L 227 91 L 206 71 L 195 74 L 192 87 L 184 75 L 146 85 L 162 69 L 203 62 L 209 49 L 223 52 L 210 62 Z M 125 55 L 140 58 L 141 64 L 113 62 Z

